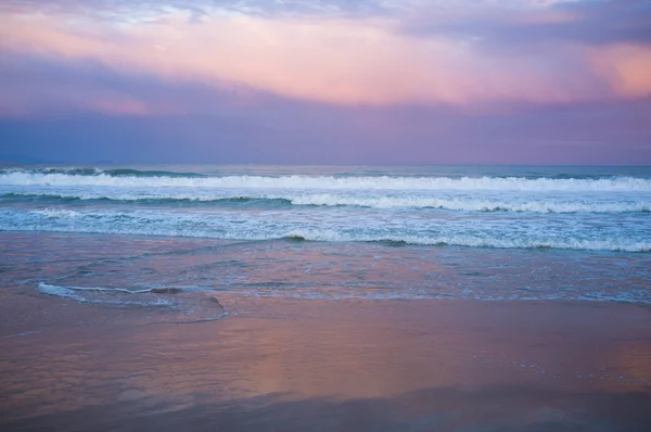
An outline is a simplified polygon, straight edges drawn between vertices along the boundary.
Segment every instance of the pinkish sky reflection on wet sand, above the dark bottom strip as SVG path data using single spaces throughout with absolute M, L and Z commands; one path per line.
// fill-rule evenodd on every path
M 29 417 L 107 401 L 359 401 L 509 387 L 574 397 L 648 392 L 651 380 L 649 330 L 638 322 L 648 314 L 636 306 L 220 298 L 231 316 L 199 325 L 138 325 L 138 312 L 71 303 L 42 332 L 0 340 L 11 372 L 5 406 Z M 88 319 L 98 322 L 79 326 Z M 636 341 L 623 343 L 624 334 Z

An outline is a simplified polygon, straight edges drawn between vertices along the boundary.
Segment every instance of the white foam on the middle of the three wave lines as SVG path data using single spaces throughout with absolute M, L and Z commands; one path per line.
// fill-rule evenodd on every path
M 419 194 L 418 192 L 392 194 L 357 191 L 347 193 L 293 193 L 270 191 L 209 191 L 186 189 L 151 189 L 124 190 L 125 188 L 92 188 L 91 190 L 66 190 L 63 188 L 47 190 L 12 189 L 12 193 L 24 196 L 46 196 L 60 199 L 112 201 L 155 201 L 177 200 L 191 202 L 222 202 L 226 200 L 284 200 L 292 205 L 316 206 L 359 206 L 370 208 L 441 208 L 464 212 L 527 212 L 527 213 L 628 213 L 651 212 L 651 199 L 647 194 L 628 193 L 620 196 L 573 193 L 562 198 L 549 196 L 549 193 L 502 193 L 501 198 L 490 193 L 473 193 L 473 196 L 455 196 L 450 193 L 438 193 L 441 196 Z M 467 195 L 467 194 L 464 194 Z M 71 216 L 65 209 L 43 209 L 43 215 L 52 218 Z

